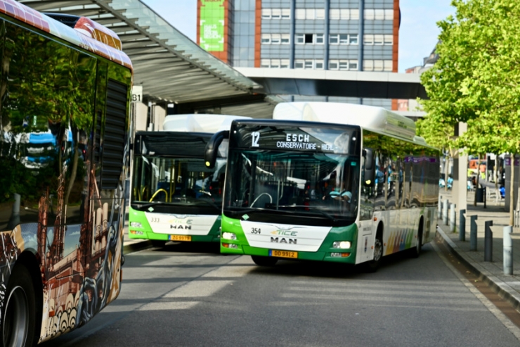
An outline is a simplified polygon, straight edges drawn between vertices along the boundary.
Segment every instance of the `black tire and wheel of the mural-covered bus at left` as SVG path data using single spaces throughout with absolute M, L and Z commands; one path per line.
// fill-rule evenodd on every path
M 36 296 L 31 274 L 15 265 L 7 284 L 0 325 L 0 346 L 33 346 L 36 327 Z

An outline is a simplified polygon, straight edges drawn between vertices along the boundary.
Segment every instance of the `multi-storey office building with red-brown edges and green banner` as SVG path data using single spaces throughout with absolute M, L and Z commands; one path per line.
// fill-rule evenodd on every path
M 398 69 L 398 0 L 198 0 L 197 19 L 197 43 L 234 67 Z M 397 109 L 389 99 L 304 99 Z

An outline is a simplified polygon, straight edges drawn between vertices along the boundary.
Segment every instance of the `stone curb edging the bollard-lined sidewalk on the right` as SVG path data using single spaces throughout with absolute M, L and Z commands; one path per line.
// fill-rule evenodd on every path
M 520 310 L 520 294 L 512 289 L 509 284 L 503 282 L 498 277 L 491 275 L 488 271 L 483 270 L 478 264 L 472 263 L 472 260 L 467 257 L 463 252 L 458 251 L 457 245 L 451 241 L 450 237 L 447 236 L 440 226 L 437 227 L 436 239 L 443 241 L 443 244 L 448 247 L 451 253 L 460 260 L 465 266 L 469 267 L 475 275 L 479 277 L 479 280 L 490 286 L 500 298 L 503 298 L 515 310 Z

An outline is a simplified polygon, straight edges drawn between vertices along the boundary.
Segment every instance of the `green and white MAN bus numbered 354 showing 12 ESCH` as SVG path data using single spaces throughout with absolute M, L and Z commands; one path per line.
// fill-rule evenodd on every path
M 211 163 L 209 163 L 211 164 Z M 438 151 L 384 108 L 280 103 L 231 125 L 221 253 L 365 263 L 433 239 Z

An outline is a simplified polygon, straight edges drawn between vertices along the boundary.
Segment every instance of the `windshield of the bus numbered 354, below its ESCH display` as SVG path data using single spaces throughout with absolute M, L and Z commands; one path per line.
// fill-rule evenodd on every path
M 223 210 L 228 217 L 312 225 L 356 219 L 359 156 L 233 149 L 229 165 Z

